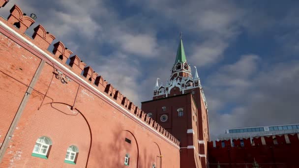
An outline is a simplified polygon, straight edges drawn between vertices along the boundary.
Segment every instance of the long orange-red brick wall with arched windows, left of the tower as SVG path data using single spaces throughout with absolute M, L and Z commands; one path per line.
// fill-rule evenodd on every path
M 8 142 L 0 168 L 127 168 L 124 166 L 126 153 L 130 155 L 130 167 L 133 168 L 149 168 L 152 164 L 157 168 L 179 168 L 177 139 L 154 122 L 146 122 L 144 112 L 112 85 L 97 77 L 91 68 L 86 69 L 87 78 L 67 71 L 69 69 L 80 75 L 86 64 L 76 56 L 72 59 L 72 67 L 65 64 L 65 59 L 61 61 L 58 56 L 67 58 L 72 54 L 61 42 L 55 45 L 56 55 L 46 51 L 55 37 L 46 33 L 40 25 L 34 29 L 33 39 L 25 35 L 24 30 L 30 24 L 26 18 L 19 18 L 22 17 L 18 15 L 20 11 L 18 6 L 14 6 L 13 17 L 10 18 L 24 24 L 22 29 L 12 26 L 12 21 L 2 18 L 0 21 L 40 47 L 62 66 L 11 30 L 0 26 L 0 143 L 39 63 L 46 61 Z M 56 68 L 71 82 L 62 83 L 57 79 Z M 91 82 L 89 78 L 92 78 Z M 48 159 L 31 156 L 35 141 L 41 136 L 52 141 Z M 125 142 L 125 138 L 131 143 Z M 64 163 L 70 145 L 76 145 L 79 149 L 76 165 Z

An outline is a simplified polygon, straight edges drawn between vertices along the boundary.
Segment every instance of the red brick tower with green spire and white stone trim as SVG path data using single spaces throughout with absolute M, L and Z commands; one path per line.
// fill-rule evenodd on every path
M 180 37 L 170 80 L 159 85 L 157 79 L 153 99 L 142 102 L 142 110 L 180 140 L 180 168 L 208 167 L 208 107 L 194 68 L 192 76 Z

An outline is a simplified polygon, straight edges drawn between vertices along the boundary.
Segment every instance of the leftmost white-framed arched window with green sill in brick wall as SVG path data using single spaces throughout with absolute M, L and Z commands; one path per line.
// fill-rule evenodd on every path
M 47 159 L 52 142 L 47 137 L 39 137 L 34 145 L 31 156 Z

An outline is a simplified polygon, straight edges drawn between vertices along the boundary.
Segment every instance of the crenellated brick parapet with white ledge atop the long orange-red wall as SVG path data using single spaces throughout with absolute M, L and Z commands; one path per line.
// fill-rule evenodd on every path
M 7 0 L 4 0 L 7 2 Z M 0 5 L 4 4 L 3 0 L 0 0 Z M 5 4 L 4 4 L 5 5 Z M 3 6 L 3 5 L 2 5 Z M 76 78 L 81 78 L 81 80 L 86 81 L 88 84 L 92 84 L 89 88 L 92 90 L 96 88 L 99 92 L 106 95 L 106 98 L 118 104 L 121 108 L 123 108 L 126 112 L 131 113 L 136 116 L 139 121 L 144 123 L 144 125 L 150 126 L 153 130 L 156 130 L 161 136 L 167 138 L 172 141 L 175 145 L 179 146 L 179 140 L 174 138 L 169 134 L 165 129 L 163 129 L 158 124 L 154 124 L 154 121 L 149 119 L 149 117 L 140 110 L 136 105 L 134 105 L 130 100 L 127 99 L 124 95 L 121 94 L 120 90 L 113 87 L 113 84 L 108 84 L 107 81 L 103 79 L 102 76 L 98 76 L 98 74 L 93 71 L 93 69 L 88 66 L 86 63 L 82 62 L 79 56 L 71 56 L 73 53 L 68 50 L 64 44 L 59 41 L 54 44 L 54 50 L 49 52 L 47 49 L 50 44 L 53 42 L 55 38 L 54 35 L 50 34 L 46 31 L 46 29 L 42 25 L 38 25 L 34 28 L 34 33 L 32 38 L 28 37 L 25 34 L 25 31 L 35 22 L 28 16 L 24 16 L 21 8 L 17 5 L 14 5 L 10 10 L 10 15 L 6 20 L 1 19 L 0 21 L 7 27 L 10 33 L 17 35 L 21 35 L 23 41 L 25 41 L 25 45 L 32 47 L 36 53 L 41 53 L 42 56 L 46 56 L 47 61 L 49 61 L 49 57 L 53 57 L 57 62 L 50 61 L 56 65 L 62 65 L 60 68 L 57 67 L 60 71 L 65 72 L 71 80 L 75 80 Z M 20 28 L 14 26 L 15 23 L 20 23 Z M 2 26 L 4 26 L 1 24 Z M 16 32 L 16 33 L 15 33 Z M 18 36 L 18 35 L 17 35 Z M 39 49 L 39 50 L 38 50 Z M 71 56 L 71 57 L 70 57 Z M 70 57 L 69 64 L 66 64 L 66 60 Z M 74 74 L 68 73 L 67 70 L 72 71 Z M 81 73 L 83 71 L 83 76 Z M 90 81 L 91 79 L 91 81 Z M 146 127 L 146 126 L 145 126 Z M 159 128 L 159 129 L 158 129 Z

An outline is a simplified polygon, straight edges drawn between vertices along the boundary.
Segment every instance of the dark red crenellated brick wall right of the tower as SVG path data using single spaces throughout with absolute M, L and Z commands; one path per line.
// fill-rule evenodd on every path
M 266 145 L 251 146 L 250 140 L 244 139 L 244 142 L 249 143 L 244 143 L 243 147 L 239 145 L 239 140 L 235 142 L 235 147 L 228 145 L 231 143 L 230 140 L 225 140 L 225 147 L 221 147 L 221 141 L 220 145 L 213 147 L 213 142 L 209 142 L 209 166 L 217 168 L 219 162 L 221 168 L 246 168 L 246 166 L 251 168 L 255 160 L 261 168 L 299 168 L 298 135 L 288 136 L 290 143 L 276 145 L 266 141 Z

